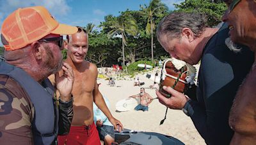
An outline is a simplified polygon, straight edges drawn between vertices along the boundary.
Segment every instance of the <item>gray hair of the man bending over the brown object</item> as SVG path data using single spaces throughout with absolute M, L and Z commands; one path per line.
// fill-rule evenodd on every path
M 201 13 L 173 12 L 164 17 L 157 27 L 157 39 L 162 34 L 168 34 L 175 38 L 180 36 L 183 28 L 189 28 L 197 38 L 204 31 L 207 19 Z

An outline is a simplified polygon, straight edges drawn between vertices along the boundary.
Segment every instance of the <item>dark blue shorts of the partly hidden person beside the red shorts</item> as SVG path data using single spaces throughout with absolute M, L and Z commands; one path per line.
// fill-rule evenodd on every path
M 110 135 L 115 139 L 114 127 L 109 125 L 98 126 L 97 130 L 99 132 L 100 140 L 104 141 L 106 135 Z

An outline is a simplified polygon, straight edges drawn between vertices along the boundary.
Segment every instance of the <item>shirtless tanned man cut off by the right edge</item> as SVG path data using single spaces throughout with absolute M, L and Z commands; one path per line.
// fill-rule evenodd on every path
M 232 41 L 250 47 L 256 57 L 256 1 L 227 0 L 223 22 L 229 26 Z M 230 144 L 256 142 L 256 60 L 240 86 L 230 111 L 229 125 L 235 131 Z

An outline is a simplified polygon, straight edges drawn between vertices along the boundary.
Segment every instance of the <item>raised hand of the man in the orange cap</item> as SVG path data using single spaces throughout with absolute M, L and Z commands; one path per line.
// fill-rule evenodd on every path
M 55 74 L 55 82 L 56 87 L 60 92 L 61 100 L 67 102 L 71 99 L 74 73 L 72 67 L 70 67 L 66 62 L 63 62 L 62 70 L 63 76 L 60 76 L 59 72 Z

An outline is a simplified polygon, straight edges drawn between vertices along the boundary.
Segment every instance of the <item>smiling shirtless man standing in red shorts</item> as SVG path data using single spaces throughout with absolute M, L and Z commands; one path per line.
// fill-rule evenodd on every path
M 85 59 L 88 52 L 88 34 L 78 27 L 78 32 L 67 36 L 64 43 L 67 49 L 67 62 L 74 71 L 74 117 L 68 135 L 58 136 L 59 144 L 100 144 L 99 134 L 93 122 L 93 102 L 108 117 L 116 130 L 122 123 L 110 113 L 97 85 L 97 66 Z

